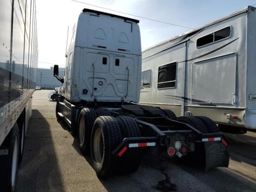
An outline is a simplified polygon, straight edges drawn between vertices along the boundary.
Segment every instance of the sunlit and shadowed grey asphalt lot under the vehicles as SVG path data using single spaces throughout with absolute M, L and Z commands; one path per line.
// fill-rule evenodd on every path
M 24 158 L 18 170 L 17 192 L 251 192 L 256 191 L 256 132 L 226 134 L 232 142 L 228 168 L 205 173 L 160 156 L 144 156 L 137 172 L 97 178 L 90 156 L 83 156 L 68 126 L 56 120 L 56 102 L 49 90 L 33 94 L 32 117 L 26 134 Z M 170 189 L 169 188 L 169 189 Z

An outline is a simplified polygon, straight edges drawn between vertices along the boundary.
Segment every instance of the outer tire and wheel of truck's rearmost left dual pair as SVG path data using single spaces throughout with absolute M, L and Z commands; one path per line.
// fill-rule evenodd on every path
M 104 138 L 104 139 L 103 139 Z M 120 158 L 112 151 L 122 142 L 118 122 L 112 116 L 99 116 L 92 128 L 92 167 L 99 178 L 106 178 L 120 170 Z

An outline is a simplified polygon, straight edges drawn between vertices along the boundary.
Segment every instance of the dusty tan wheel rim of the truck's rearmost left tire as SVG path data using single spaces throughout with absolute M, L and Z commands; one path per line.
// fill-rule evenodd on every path
M 103 144 L 103 136 L 101 129 L 98 128 L 95 131 L 94 138 L 93 138 L 93 152 L 94 152 L 94 158 L 97 164 L 102 163 L 103 159 L 103 150 L 104 150 L 104 144 Z

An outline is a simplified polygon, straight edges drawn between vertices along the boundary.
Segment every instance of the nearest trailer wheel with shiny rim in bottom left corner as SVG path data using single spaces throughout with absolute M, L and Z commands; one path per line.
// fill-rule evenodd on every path
M 0 186 L 1 191 L 14 192 L 19 159 L 20 135 L 17 123 L 4 140 L 2 146 L 8 148 L 8 154 L 0 156 Z

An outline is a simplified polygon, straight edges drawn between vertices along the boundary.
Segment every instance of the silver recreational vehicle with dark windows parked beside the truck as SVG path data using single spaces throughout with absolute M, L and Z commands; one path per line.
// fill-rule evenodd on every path
M 142 52 L 140 104 L 256 129 L 256 8 L 248 6 Z

